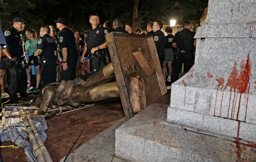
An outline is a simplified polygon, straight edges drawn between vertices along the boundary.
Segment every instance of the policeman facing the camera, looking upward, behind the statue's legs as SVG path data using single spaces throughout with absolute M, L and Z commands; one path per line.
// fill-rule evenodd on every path
M 105 35 L 108 31 L 100 24 L 100 18 L 97 13 L 92 13 L 89 16 L 91 28 L 87 30 L 85 37 L 85 47 L 82 53 L 81 62 L 85 62 L 85 54 L 89 55 L 92 74 L 97 73 L 100 69 L 107 65 L 106 48 L 107 41 Z

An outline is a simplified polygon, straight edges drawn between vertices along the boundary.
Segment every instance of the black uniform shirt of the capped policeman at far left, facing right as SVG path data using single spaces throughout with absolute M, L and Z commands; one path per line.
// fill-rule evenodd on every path
M 5 30 L 4 35 L 11 56 L 22 56 L 24 54 L 24 40 L 22 38 L 21 32 L 16 30 L 14 27 L 11 27 L 10 29 Z

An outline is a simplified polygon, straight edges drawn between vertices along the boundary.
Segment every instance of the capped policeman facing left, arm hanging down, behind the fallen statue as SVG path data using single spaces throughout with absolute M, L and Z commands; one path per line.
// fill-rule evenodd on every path
M 60 29 L 58 44 L 63 56 L 61 79 L 73 80 L 75 78 L 75 67 L 78 56 L 76 53 L 74 33 L 67 28 L 68 22 L 65 18 L 60 17 L 54 22 L 57 28 Z

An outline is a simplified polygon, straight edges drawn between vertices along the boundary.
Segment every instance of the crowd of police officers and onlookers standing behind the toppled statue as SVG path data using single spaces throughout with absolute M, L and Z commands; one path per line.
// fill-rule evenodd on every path
M 132 24 L 127 23 L 124 29 L 121 20 L 116 18 L 112 23 L 105 21 L 100 24 L 97 13 L 89 16 L 91 27 L 84 33 L 78 30 L 74 33 L 68 28 L 65 18 L 54 21 L 60 30 L 58 36 L 53 26 L 42 26 L 40 37 L 32 30 L 26 30 L 27 41 L 21 35 L 26 22 L 16 17 L 13 26 L 5 30 L 4 36 L 7 48 L 1 55 L 0 70 L 2 96 L 10 95 L 12 103 L 30 99 L 33 95 L 27 91 L 39 91 L 39 84 L 46 85 L 60 80 L 73 80 L 86 73 L 95 74 L 111 62 L 105 35 L 110 32 L 133 34 Z M 187 72 L 194 63 L 194 32 L 190 31 L 190 23 L 184 22 L 183 30 L 172 35 L 172 27 L 166 27 L 162 32 L 162 21 L 147 23 L 147 34 L 135 30 L 136 34 L 151 35 L 154 38 L 159 61 L 167 82 L 175 82 L 184 63 Z M 173 63 L 172 63 L 173 62 Z M 167 64 L 167 66 L 166 66 Z M 167 67 L 167 72 L 166 72 Z M 7 74 L 7 93 L 5 90 L 5 74 Z M 35 75 L 32 87 L 31 74 Z M 17 92 L 21 97 L 18 98 Z

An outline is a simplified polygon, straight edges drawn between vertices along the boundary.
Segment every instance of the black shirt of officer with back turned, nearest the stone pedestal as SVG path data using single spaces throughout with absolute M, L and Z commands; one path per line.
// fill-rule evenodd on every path
M 190 29 L 184 28 L 180 32 L 177 32 L 172 40 L 173 43 L 177 44 L 177 48 L 185 51 L 194 50 L 194 35 L 195 32 L 191 32 Z

